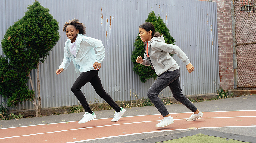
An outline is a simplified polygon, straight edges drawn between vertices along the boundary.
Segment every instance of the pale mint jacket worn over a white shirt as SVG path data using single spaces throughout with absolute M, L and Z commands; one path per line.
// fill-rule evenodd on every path
M 102 42 L 98 39 L 78 34 L 76 37 L 76 57 L 70 52 L 71 40 L 68 39 L 64 47 L 64 58 L 59 66 L 64 70 L 73 62 L 76 73 L 94 70 L 92 65 L 95 62 L 101 63 L 105 57 L 105 49 Z M 97 54 L 94 51 L 97 51 Z

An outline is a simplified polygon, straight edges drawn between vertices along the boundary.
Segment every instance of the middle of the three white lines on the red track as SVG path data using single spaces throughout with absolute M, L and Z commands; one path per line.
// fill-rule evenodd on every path
M 241 117 L 256 117 L 256 116 L 210 117 L 210 118 L 200 118 L 200 119 L 212 119 L 212 118 L 241 118 Z M 174 119 L 174 120 L 186 120 L 186 118 L 184 118 L 184 119 Z M 155 121 L 131 122 L 131 123 L 123 123 L 123 124 L 112 124 L 112 125 L 103 125 L 103 126 L 95 126 L 95 127 L 77 128 L 77 129 L 69 129 L 69 130 L 60 130 L 60 131 L 53 131 L 53 132 L 45 132 L 45 133 L 35 133 L 35 134 L 21 135 L 21 136 L 3 137 L 3 138 L 0 138 L 0 139 L 9 139 L 9 138 L 16 138 L 16 137 L 23 137 L 23 136 L 41 135 L 41 134 L 47 134 L 47 133 L 58 133 L 58 132 L 65 132 L 65 131 L 72 131 L 72 130 L 81 130 L 81 129 L 89 129 L 89 128 L 97 128 L 97 127 L 108 127 L 108 126 L 125 125 L 125 124 L 147 123 L 147 122 L 156 122 L 156 121 L 159 121 L 159 120 L 155 120 Z M 179 129 L 177 129 L 177 130 L 179 130 Z

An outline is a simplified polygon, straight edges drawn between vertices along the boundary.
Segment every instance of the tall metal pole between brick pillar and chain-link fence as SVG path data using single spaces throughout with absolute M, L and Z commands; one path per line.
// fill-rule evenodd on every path
M 234 89 L 238 87 L 238 66 L 236 53 L 236 22 L 235 22 L 235 1 L 231 1 L 231 19 L 232 19 L 232 46 L 233 46 L 233 64 L 234 64 Z

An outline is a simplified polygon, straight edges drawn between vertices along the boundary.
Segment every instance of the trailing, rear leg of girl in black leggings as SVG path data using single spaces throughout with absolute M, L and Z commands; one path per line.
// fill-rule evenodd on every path
M 92 77 L 90 80 L 90 83 L 92 84 L 93 88 L 95 89 L 96 93 L 103 99 L 105 100 L 114 110 L 119 112 L 121 108 L 115 103 L 115 101 L 108 95 L 107 92 L 102 87 L 101 80 L 98 76 L 98 71 L 95 70 L 95 76 Z

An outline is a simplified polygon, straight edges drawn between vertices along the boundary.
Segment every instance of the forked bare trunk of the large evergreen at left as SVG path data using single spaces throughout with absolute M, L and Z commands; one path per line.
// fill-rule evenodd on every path
M 29 80 L 30 80 L 31 88 L 35 92 L 35 89 L 34 89 L 34 86 L 33 86 L 30 74 L 29 74 Z M 39 116 L 41 116 L 41 96 L 40 96 L 39 63 L 37 63 L 37 66 L 36 66 L 36 81 L 37 81 L 37 100 L 36 100 L 36 95 L 34 93 L 31 102 L 35 106 L 36 117 L 39 117 Z

